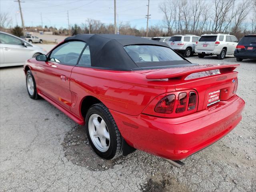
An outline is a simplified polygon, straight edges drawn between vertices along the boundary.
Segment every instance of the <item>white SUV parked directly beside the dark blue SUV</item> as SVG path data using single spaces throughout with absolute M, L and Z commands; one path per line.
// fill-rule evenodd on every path
M 198 57 L 217 55 L 218 59 L 224 59 L 226 54 L 234 54 L 238 40 L 229 34 L 204 34 L 196 43 L 195 53 Z

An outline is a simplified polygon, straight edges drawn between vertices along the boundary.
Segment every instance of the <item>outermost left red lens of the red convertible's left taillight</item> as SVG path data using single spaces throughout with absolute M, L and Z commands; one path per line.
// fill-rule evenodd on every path
M 167 95 L 162 98 L 155 107 L 155 112 L 158 113 L 172 113 L 175 103 L 175 95 Z

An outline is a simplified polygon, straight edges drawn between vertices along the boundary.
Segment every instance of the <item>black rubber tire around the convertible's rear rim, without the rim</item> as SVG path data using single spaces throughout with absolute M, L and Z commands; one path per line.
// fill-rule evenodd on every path
M 98 114 L 102 119 L 105 121 L 106 126 L 108 128 L 109 136 L 110 136 L 110 142 L 109 142 L 109 148 L 106 152 L 101 152 L 94 146 L 89 132 L 89 118 L 92 114 Z M 90 107 L 86 114 L 85 118 L 86 122 L 86 134 L 88 136 L 88 140 L 90 141 L 90 144 L 93 148 L 93 150 L 96 152 L 96 154 L 104 159 L 115 159 L 118 156 L 122 155 L 123 152 L 123 143 L 122 143 L 122 136 L 118 130 L 118 127 L 116 125 L 116 122 L 112 115 L 110 114 L 108 108 L 104 106 L 102 103 L 94 104 Z

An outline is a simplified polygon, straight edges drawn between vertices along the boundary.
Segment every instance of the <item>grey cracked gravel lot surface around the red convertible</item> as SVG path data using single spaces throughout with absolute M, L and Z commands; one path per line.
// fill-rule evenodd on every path
M 106 161 L 91 150 L 82 126 L 45 100 L 28 97 L 22 67 L 0 70 L 0 191 L 256 191 L 256 60 L 240 63 L 243 120 L 227 136 L 186 158 L 182 168 L 136 150 Z

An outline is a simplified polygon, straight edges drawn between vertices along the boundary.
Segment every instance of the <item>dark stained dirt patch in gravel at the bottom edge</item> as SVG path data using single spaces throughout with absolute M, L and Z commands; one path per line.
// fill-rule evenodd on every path
M 179 183 L 175 178 L 167 175 L 156 174 L 152 176 L 142 190 L 146 192 L 189 192 L 188 188 Z

